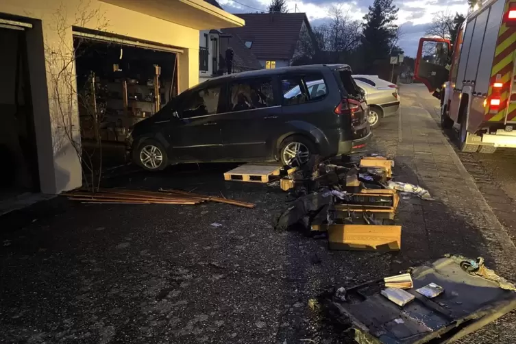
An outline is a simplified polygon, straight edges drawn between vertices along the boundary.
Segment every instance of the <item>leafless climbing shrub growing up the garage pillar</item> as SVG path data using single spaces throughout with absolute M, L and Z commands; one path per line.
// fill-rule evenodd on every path
M 90 1 L 80 1 L 77 6 L 77 12 L 73 15 L 73 20 L 69 21 L 66 13 L 66 7 L 60 5 L 58 10 L 53 14 L 53 22 L 51 27 L 56 32 L 58 40 L 45 40 L 45 60 L 49 71 L 47 77 L 52 85 L 52 92 L 49 95 L 51 101 L 52 121 L 55 123 L 56 132 L 54 133 L 54 151 L 61 151 L 66 146 L 71 146 L 77 158 L 81 163 L 83 180 L 86 186 L 93 189 L 99 188 L 101 180 L 101 137 L 100 123 L 102 115 L 97 109 L 90 106 L 95 97 L 86 90 L 86 92 L 77 92 L 77 78 L 75 75 L 75 64 L 77 58 L 84 53 L 82 49 L 82 40 L 79 40 L 74 46 L 73 40 L 70 39 L 71 30 L 74 26 L 88 27 L 90 23 L 95 21 L 95 29 L 97 31 L 106 32 L 108 21 L 99 8 L 92 9 Z M 95 82 L 95 80 L 90 80 Z M 86 88 L 87 89 L 87 88 Z M 99 155 L 96 156 L 97 148 L 88 152 L 81 143 L 81 123 L 79 123 L 79 106 L 86 112 L 88 121 L 93 123 L 95 141 L 99 147 Z M 90 180 L 86 177 L 86 172 L 90 175 Z

